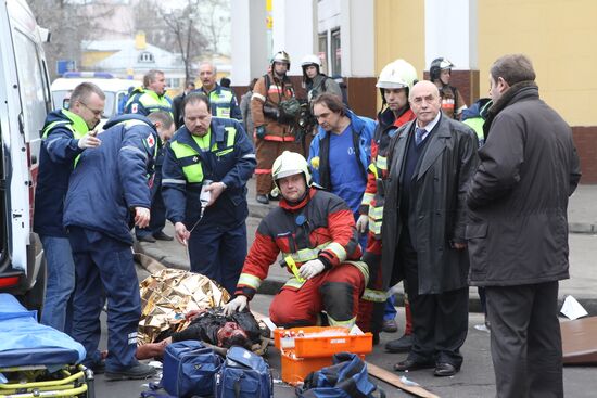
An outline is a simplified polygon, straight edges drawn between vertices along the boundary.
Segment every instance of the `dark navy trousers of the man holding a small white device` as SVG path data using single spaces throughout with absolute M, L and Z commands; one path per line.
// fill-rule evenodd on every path
M 189 239 L 191 271 L 201 273 L 234 295 L 246 257 L 246 224 L 224 228 L 199 223 Z

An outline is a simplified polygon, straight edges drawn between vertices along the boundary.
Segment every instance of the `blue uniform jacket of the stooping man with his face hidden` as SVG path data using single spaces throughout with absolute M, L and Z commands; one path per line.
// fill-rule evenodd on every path
M 150 208 L 148 179 L 158 138 L 153 124 L 140 115 L 116 116 L 105 128 L 98 136 L 101 145 L 86 150 L 71 175 L 64 226 L 99 231 L 132 245 L 131 210 Z

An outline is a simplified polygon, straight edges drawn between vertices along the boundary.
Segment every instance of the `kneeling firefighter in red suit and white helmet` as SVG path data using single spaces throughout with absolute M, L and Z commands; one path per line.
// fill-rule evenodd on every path
M 325 311 L 330 325 L 352 328 L 369 272 L 361 256 L 354 216 L 332 193 L 310 187 L 305 158 L 284 151 L 272 166 L 280 206 L 259 223 L 242 269 L 236 298 L 226 313 L 243 310 L 282 252 L 289 281 L 274 297 L 269 317 L 279 326 L 318 324 Z

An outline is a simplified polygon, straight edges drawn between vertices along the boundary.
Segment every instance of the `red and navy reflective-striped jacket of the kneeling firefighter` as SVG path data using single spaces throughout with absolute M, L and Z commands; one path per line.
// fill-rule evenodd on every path
M 369 277 L 367 266 L 359 261 L 361 249 L 351 209 L 336 195 L 315 188 L 295 206 L 282 198 L 280 207 L 262 220 L 236 293 L 253 297 L 280 252 L 291 256 L 297 268 L 318 258 L 331 267 L 351 264 L 366 280 Z M 300 288 L 302 284 L 292 277 L 285 286 Z

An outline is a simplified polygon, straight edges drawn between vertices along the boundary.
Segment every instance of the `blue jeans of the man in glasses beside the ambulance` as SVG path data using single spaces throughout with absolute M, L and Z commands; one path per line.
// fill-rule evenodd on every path
M 68 237 L 39 236 L 46 253 L 48 278 L 41 323 L 69 333 L 71 295 L 75 291 L 75 262 Z

